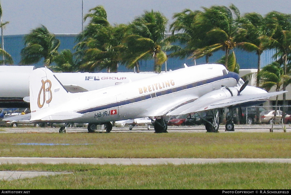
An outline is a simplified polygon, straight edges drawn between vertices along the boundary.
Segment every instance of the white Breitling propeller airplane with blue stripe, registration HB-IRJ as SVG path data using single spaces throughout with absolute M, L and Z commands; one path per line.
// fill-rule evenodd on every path
M 36 68 L 29 77 L 30 121 L 89 123 L 89 132 L 104 124 L 110 132 L 110 121 L 151 117 L 155 132 L 163 133 L 167 132 L 164 117 L 207 111 L 206 130 L 217 132 L 219 108 L 262 103 L 286 92 L 267 93 L 248 86 L 221 64 L 184 66 L 122 85 L 78 93 L 66 91 L 49 69 Z M 226 129 L 234 129 L 232 120 L 226 123 Z M 65 127 L 61 127 L 62 131 Z

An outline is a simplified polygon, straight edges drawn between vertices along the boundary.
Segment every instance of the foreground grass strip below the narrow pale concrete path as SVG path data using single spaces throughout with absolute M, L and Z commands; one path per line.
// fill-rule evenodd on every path
M 0 170 L 72 174 L 0 181 L 0 189 L 290 189 L 291 164 L 0 165 Z

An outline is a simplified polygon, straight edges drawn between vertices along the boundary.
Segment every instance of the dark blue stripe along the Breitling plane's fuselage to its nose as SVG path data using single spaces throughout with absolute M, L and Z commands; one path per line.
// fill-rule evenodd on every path
M 237 73 L 229 72 L 226 75 L 222 75 L 222 76 L 218 76 L 218 77 L 214 77 L 214 78 L 210 78 L 210 79 L 206 79 L 206 80 L 190 83 L 190 84 L 187 84 L 187 85 L 183 85 L 183 86 L 179 86 L 179 87 L 175 87 L 175 88 L 171 88 L 171 89 L 166 89 L 164 91 L 156 92 L 156 93 L 152 93 L 152 94 L 155 94 L 154 97 L 162 96 L 162 95 L 170 94 L 170 93 L 173 93 L 173 92 L 182 91 L 184 89 L 190 89 L 190 88 L 193 88 L 193 87 L 198 87 L 200 85 L 209 84 L 211 82 L 215 82 L 215 81 L 226 79 L 226 78 L 234 78 L 238 82 L 240 77 L 239 77 L 239 75 Z M 80 111 L 78 111 L 78 113 L 81 113 L 81 114 L 91 113 L 91 112 L 98 111 L 98 110 L 104 110 L 104 109 L 113 108 L 113 107 L 117 107 L 117 106 L 123 106 L 123 105 L 129 104 L 129 103 L 143 101 L 143 100 L 152 98 L 152 96 L 151 96 L 152 94 L 147 94 L 147 95 L 139 96 L 139 97 L 136 97 L 136 98 L 133 98 L 133 99 L 129 99 L 129 100 L 119 101 L 119 102 L 110 103 L 110 104 L 103 105 L 103 106 L 97 106 L 97 107 L 94 107 L 94 108 L 88 108 L 88 109 L 85 109 L 85 110 L 80 110 Z

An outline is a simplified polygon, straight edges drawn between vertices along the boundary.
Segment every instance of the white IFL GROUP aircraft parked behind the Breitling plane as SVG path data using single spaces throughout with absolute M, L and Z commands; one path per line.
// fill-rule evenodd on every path
M 0 66 L 0 108 L 28 108 L 29 75 L 34 66 Z M 156 73 L 54 73 L 69 92 L 84 92 L 119 85 Z

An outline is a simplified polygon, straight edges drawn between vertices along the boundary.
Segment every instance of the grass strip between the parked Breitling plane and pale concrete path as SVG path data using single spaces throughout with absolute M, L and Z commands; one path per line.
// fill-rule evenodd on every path
M 66 143 L 74 145 L 15 145 Z M 1 133 L 0 156 L 291 158 L 291 133 Z M 78 145 L 88 144 L 88 145 Z

